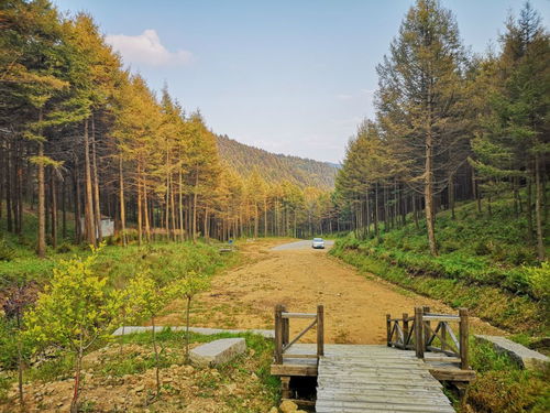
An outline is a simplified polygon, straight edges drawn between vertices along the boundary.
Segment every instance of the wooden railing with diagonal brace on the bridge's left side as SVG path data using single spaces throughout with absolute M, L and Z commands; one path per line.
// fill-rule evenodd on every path
M 290 339 L 290 318 L 310 318 L 312 322 L 296 337 Z M 317 354 L 290 354 L 288 350 L 311 328 L 317 326 Z M 317 313 L 288 313 L 282 304 L 275 306 L 275 365 L 282 365 L 284 358 L 317 358 L 324 355 L 324 311 L 317 306 Z

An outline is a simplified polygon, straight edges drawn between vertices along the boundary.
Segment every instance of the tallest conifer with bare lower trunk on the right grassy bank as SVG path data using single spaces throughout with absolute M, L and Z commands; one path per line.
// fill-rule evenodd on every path
M 428 241 L 436 242 L 433 196 L 449 182 L 464 139 L 464 52 L 452 13 L 438 0 L 418 0 L 402 23 L 388 56 L 378 65 L 378 117 L 396 153 L 407 164 L 409 185 L 424 194 Z

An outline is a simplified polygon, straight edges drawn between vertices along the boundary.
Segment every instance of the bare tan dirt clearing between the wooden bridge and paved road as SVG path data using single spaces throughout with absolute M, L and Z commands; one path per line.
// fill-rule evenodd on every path
M 191 325 L 219 328 L 273 328 L 274 306 L 290 312 L 312 313 L 324 305 L 326 343 L 383 344 L 386 314 L 413 314 L 415 306 L 428 305 L 438 313 L 457 309 L 405 291 L 374 275 L 360 274 L 353 267 L 327 254 L 328 250 L 284 248 L 276 244 L 296 240 L 268 240 L 241 248 L 245 263 L 217 275 L 211 289 L 197 297 Z M 184 305 L 175 302 L 160 325 L 183 325 Z M 307 320 L 290 322 L 296 334 Z M 473 332 L 503 334 L 480 319 L 471 319 Z M 304 343 L 312 341 L 314 333 Z

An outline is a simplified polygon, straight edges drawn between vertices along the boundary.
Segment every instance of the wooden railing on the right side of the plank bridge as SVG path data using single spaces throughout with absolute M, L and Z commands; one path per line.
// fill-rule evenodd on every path
M 458 325 L 458 335 L 453 326 Z M 386 315 L 387 346 L 415 350 L 416 356 L 430 361 L 459 363 L 469 367 L 468 309 L 460 308 L 458 315 L 436 314 L 430 307 L 416 307 L 415 316 L 403 314 L 400 318 Z M 426 357 L 426 352 L 442 355 Z

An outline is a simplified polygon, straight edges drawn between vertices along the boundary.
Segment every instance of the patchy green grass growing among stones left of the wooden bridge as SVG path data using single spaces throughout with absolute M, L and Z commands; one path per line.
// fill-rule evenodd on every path
M 184 357 L 184 332 L 173 332 L 164 329 L 157 333 L 157 345 L 161 347 L 161 368 L 167 371 L 177 369 L 185 365 Z M 209 343 L 220 338 L 243 337 L 246 340 L 248 352 L 233 360 L 219 366 L 217 369 L 197 368 L 193 378 L 187 377 L 189 387 L 195 387 L 194 396 L 210 400 L 216 398 L 217 393 L 223 387 L 242 384 L 245 380 L 253 385 L 254 391 L 245 396 L 239 394 L 229 394 L 223 401 L 228 409 L 234 412 L 252 412 L 255 409 L 249 406 L 250 403 L 261 403 L 263 405 L 274 405 L 278 402 L 280 382 L 277 378 L 270 374 L 270 366 L 273 354 L 273 340 L 252 334 L 218 334 L 205 336 L 190 333 L 191 347 L 204 343 Z M 90 358 L 85 358 L 85 377 L 94 377 L 96 381 L 106 385 L 106 396 L 112 392 L 112 396 L 123 392 L 124 380 L 129 377 L 135 377 L 140 380 L 145 377 L 147 371 L 154 367 L 154 355 L 151 333 L 132 334 L 113 338 L 110 343 L 99 343 Z M 25 371 L 25 382 L 32 383 L 52 383 L 73 377 L 73 359 L 67 355 L 45 361 L 38 367 L 30 368 Z M 163 370 L 161 370 L 161 377 Z M 15 381 L 14 374 L 7 372 L 0 373 L 0 407 L 1 403 L 7 403 L 7 391 Z M 180 384 L 180 383 L 179 383 Z M 118 387 L 119 390 L 117 390 Z M 170 383 L 163 382 L 162 403 L 154 404 L 153 409 L 157 412 L 174 411 L 178 400 L 178 390 Z M 70 394 L 67 394 L 70 395 Z M 59 394 L 62 396 L 62 394 Z M 86 399 L 86 391 L 82 393 L 85 405 L 94 406 L 95 401 Z M 227 410 L 226 410 L 227 411 Z

